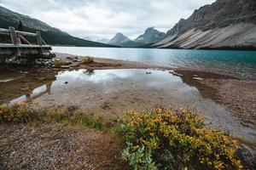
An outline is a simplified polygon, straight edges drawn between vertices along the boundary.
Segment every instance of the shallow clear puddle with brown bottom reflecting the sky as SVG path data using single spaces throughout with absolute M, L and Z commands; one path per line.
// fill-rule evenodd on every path
M 38 107 L 78 105 L 109 119 L 124 116 L 124 111 L 171 105 L 174 108 L 183 107 L 196 111 L 206 117 L 210 126 L 230 131 L 238 138 L 252 141 L 256 139 L 255 132 L 241 126 L 238 119 L 230 116 L 222 105 L 202 98 L 197 88 L 184 83 L 169 71 L 62 71 L 57 74 L 53 72 L 44 78 L 37 74 L 30 75 L 26 79 L 4 84 L 9 84 L 9 88 L 3 88 L 3 83 L 0 82 L 2 103 L 8 99 L 10 104 L 31 100 Z M 25 91 L 21 91 L 21 88 Z

